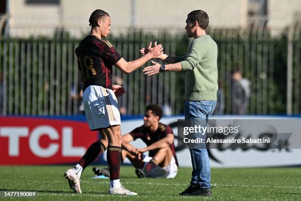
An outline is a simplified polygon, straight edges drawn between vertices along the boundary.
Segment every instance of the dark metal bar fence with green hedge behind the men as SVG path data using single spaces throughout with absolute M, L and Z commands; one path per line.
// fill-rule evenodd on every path
M 300 114 L 300 29 L 295 29 L 290 39 L 287 34 L 273 36 L 265 26 L 246 30 L 211 29 L 208 33 L 219 51 L 216 114 Z M 109 38 L 127 61 L 139 58 L 139 49 L 153 39 L 162 43 L 169 55 L 181 56 L 189 46 L 183 32 L 135 30 Z M 74 54 L 79 42 L 71 38 L 0 39 L 0 114 L 82 114 Z M 235 68 L 249 81 L 248 96 L 245 89 L 234 95 L 235 87 L 239 86 L 231 73 Z M 114 81 L 126 88 L 126 94 L 119 99 L 124 114 L 143 114 L 146 104 L 151 102 L 164 106 L 167 113 L 182 113 L 185 73 L 166 72 L 147 77 L 142 69 L 122 74 L 114 68 Z M 244 93 L 245 99 L 243 112 L 235 108 L 240 93 Z

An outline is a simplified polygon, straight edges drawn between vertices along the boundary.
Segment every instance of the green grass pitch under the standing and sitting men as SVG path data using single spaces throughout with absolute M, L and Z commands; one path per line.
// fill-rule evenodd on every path
M 63 178 L 66 166 L 0 166 L 0 191 L 35 191 L 37 196 L 26 200 L 47 201 L 301 200 L 300 168 L 212 168 L 213 196 L 200 198 L 179 196 L 189 183 L 191 168 L 180 168 L 175 179 L 138 179 L 133 167 L 121 167 L 122 184 L 138 193 L 126 197 L 108 195 L 109 179 L 92 179 L 91 167 L 82 174 L 81 195 L 72 193 Z

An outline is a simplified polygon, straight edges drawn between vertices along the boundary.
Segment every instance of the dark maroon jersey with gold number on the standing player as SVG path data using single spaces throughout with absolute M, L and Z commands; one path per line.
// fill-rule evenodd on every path
M 84 91 L 90 85 L 112 88 L 112 66 L 121 56 L 107 40 L 101 40 L 94 35 L 85 37 L 75 49 L 78 59 L 78 69 L 86 78 Z

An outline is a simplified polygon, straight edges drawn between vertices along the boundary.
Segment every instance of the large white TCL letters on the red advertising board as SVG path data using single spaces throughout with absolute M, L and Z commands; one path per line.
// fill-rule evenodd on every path
M 57 130 L 51 126 L 35 127 L 31 133 L 27 127 L 0 127 L 0 136 L 8 137 L 8 155 L 20 155 L 20 137 L 29 137 L 29 144 L 31 152 L 42 158 L 49 158 L 54 156 L 60 147 L 60 143 L 52 142 L 48 147 L 43 148 L 39 144 L 39 139 L 42 135 L 47 135 L 52 140 L 60 140 L 60 135 Z M 61 131 L 61 155 L 62 156 L 82 156 L 85 154 L 85 147 L 73 147 L 72 128 L 63 127 Z M 22 147 L 21 147 L 22 148 Z

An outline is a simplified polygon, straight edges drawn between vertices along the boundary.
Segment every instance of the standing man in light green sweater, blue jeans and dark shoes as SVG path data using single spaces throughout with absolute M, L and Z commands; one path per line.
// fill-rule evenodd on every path
M 210 35 L 206 35 L 209 17 L 203 10 L 194 10 L 187 15 L 186 31 L 193 37 L 186 55 L 172 57 L 162 54 L 159 59 L 168 65 L 154 64 L 145 67 L 146 75 L 164 71 L 185 71 L 184 115 L 187 120 L 200 120 L 206 126 L 213 113 L 217 95 L 217 45 Z M 148 50 L 142 48 L 141 53 Z M 205 135 L 206 137 L 206 135 Z M 190 185 L 180 195 L 211 196 L 210 161 L 206 147 L 191 148 L 192 175 Z

